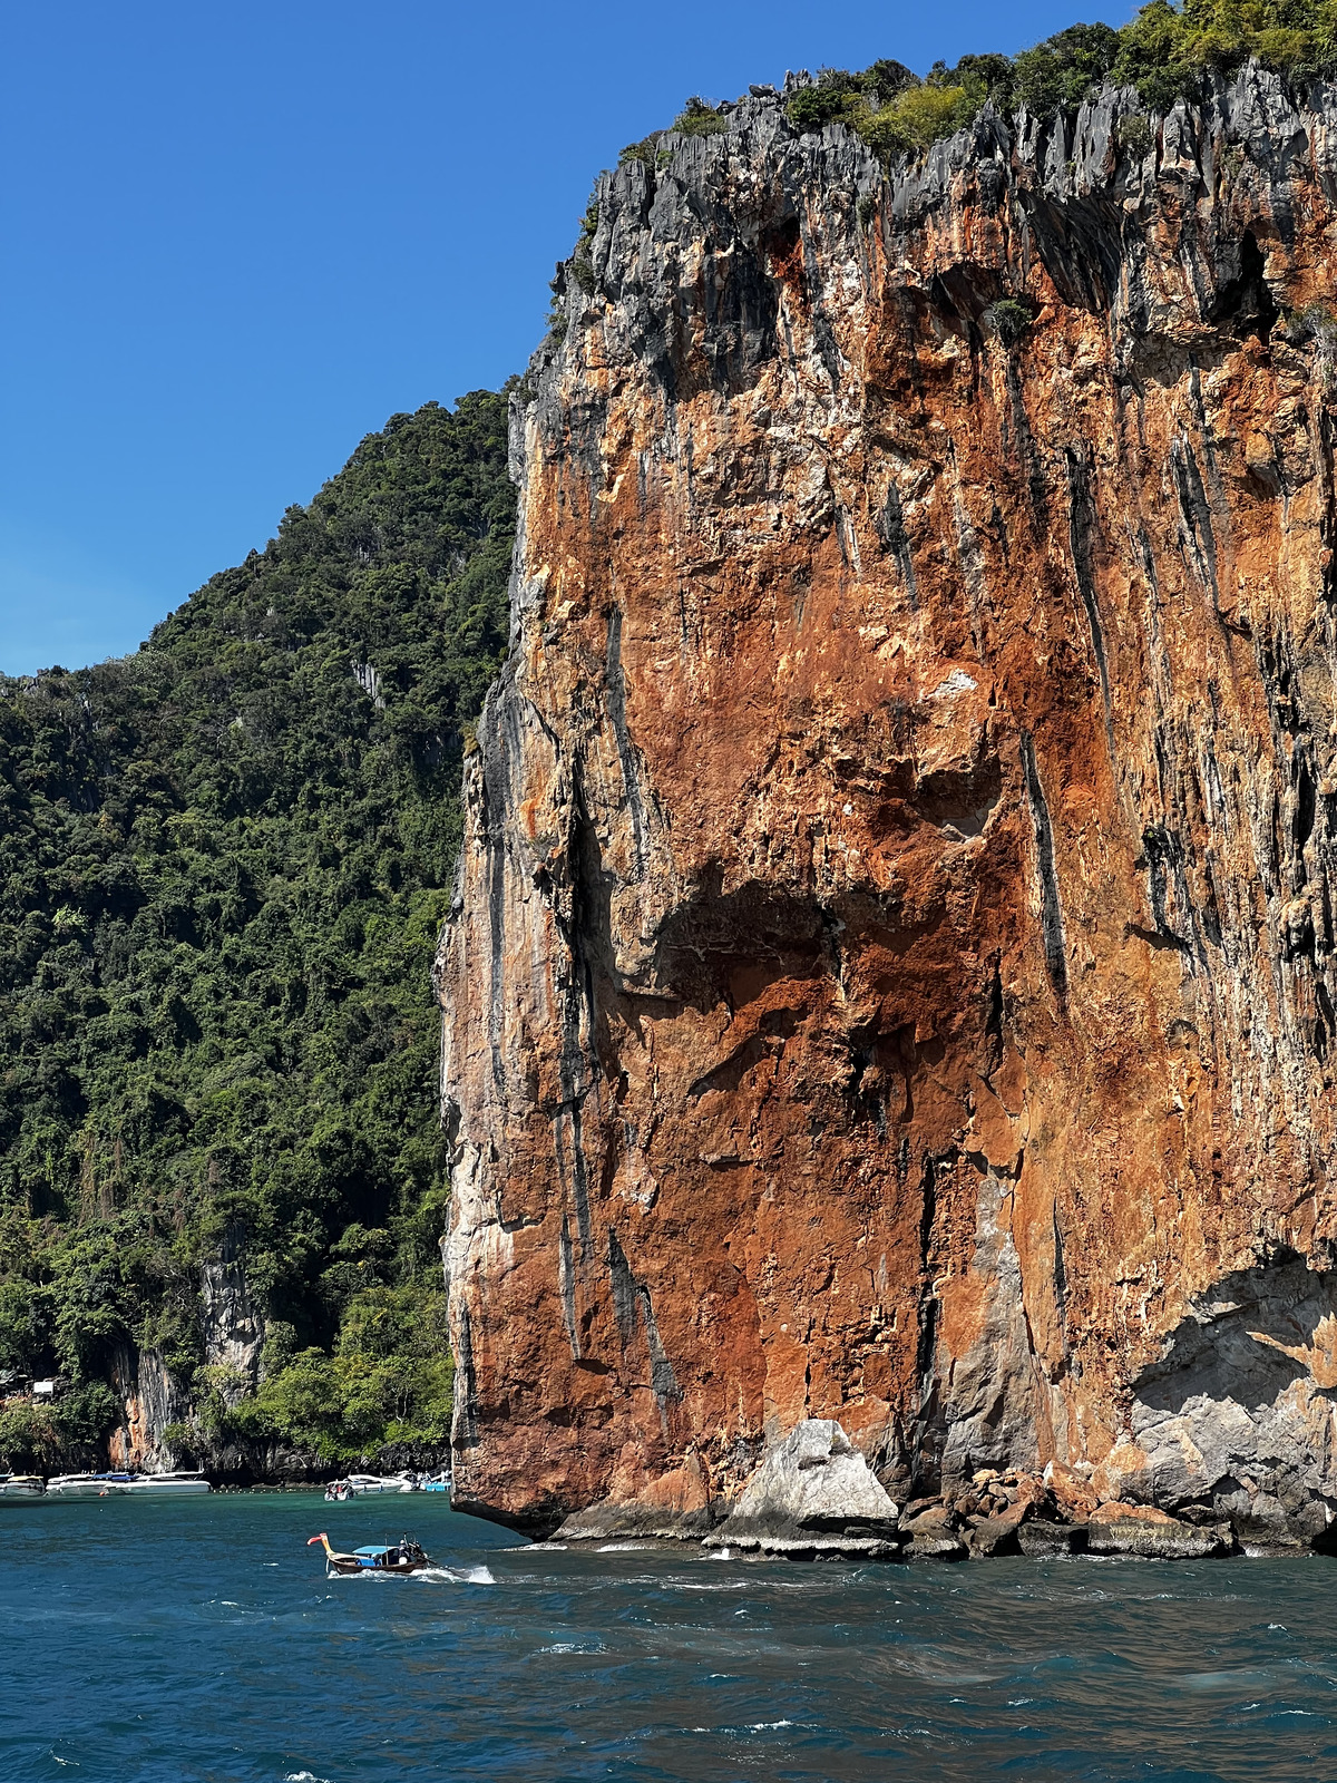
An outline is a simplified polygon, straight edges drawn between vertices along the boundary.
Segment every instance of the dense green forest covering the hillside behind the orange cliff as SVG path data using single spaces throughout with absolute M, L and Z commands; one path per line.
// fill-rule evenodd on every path
M 504 410 L 396 415 L 137 654 L 0 678 L 0 1373 L 137 1344 L 205 1434 L 442 1437 L 428 974 L 506 637 Z M 269 1325 L 232 1410 L 225 1234 Z M 16 1458 L 61 1439 L 16 1416 Z

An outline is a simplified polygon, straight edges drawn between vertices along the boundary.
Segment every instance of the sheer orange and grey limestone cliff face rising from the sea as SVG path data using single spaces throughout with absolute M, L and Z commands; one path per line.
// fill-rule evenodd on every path
M 601 182 L 439 961 L 490 1514 L 833 1417 L 1332 1521 L 1333 112 L 1123 111 Z

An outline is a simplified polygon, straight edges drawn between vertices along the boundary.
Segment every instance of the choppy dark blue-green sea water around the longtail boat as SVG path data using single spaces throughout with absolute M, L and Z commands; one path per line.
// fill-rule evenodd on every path
M 324 1578 L 417 1532 L 412 1580 Z M 0 1779 L 1337 1778 L 1337 1562 L 512 1548 L 430 1498 L 0 1510 Z

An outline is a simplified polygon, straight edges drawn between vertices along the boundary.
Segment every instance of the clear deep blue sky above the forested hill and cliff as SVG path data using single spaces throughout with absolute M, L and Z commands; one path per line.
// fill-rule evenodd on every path
M 542 333 L 594 177 L 692 93 L 1132 5 L 53 0 L 5 27 L 0 669 L 134 649 L 387 415 Z

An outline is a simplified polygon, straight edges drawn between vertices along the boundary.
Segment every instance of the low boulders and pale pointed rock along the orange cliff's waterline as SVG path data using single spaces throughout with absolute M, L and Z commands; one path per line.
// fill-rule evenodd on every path
M 1005 1555 L 1136 1555 L 1210 1560 L 1257 1553 L 1323 1553 L 1321 1541 L 1257 1542 L 1189 1507 L 1173 1517 L 1153 1505 L 1102 1500 L 1080 1467 L 1043 1475 L 979 1469 L 950 1492 L 898 1505 L 834 1419 L 800 1423 L 756 1469 L 742 1494 L 690 1503 L 601 1503 L 576 1512 L 554 1546 L 693 1544 L 720 1557 L 783 1560 L 989 1560 Z

